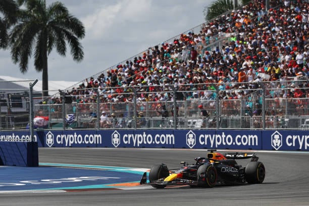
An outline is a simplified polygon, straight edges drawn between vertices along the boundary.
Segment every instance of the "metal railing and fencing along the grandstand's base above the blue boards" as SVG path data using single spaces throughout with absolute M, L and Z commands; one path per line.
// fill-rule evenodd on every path
M 291 88 L 295 82 L 301 87 Z M 59 104 L 49 99 L 46 104 L 35 105 L 34 113 L 49 118 L 49 129 L 307 128 L 309 95 L 301 98 L 290 95 L 294 89 L 308 93 L 308 88 L 302 87 L 307 85 L 306 79 L 222 85 L 225 86 L 164 85 L 152 86 L 150 90 L 149 86 L 123 87 L 119 93 L 113 93 L 119 87 L 73 90 L 57 97 Z M 223 89 L 226 86 L 229 89 Z M 243 95 L 239 95 L 241 91 Z M 167 116 L 162 115 L 163 105 Z M 199 105 L 208 112 L 208 117 L 201 116 Z M 109 115 L 105 122 L 100 120 L 102 111 Z

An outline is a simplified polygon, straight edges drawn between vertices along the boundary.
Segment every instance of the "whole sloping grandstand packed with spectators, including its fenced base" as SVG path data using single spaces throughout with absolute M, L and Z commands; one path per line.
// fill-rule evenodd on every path
M 53 114 L 44 106 L 35 112 L 55 123 L 74 113 L 86 129 L 298 128 L 309 119 L 308 3 L 270 1 L 266 11 L 263 2 L 251 1 L 68 87 L 49 99 Z M 162 105 L 168 118 L 162 119 Z M 207 109 L 207 120 L 198 105 Z M 112 118 L 108 124 L 100 123 L 103 110 Z M 122 119 L 125 126 L 118 125 Z

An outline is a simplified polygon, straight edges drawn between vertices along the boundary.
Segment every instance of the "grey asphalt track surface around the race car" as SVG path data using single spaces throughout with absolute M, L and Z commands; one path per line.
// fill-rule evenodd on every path
M 219 151 L 220 152 L 220 151 Z M 224 153 L 224 151 L 222 152 Z M 214 188 L 0 194 L 0 205 L 309 205 L 309 152 L 256 151 L 266 167 L 263 184 Z M 135 148 L 39 148 L 40 163 L 151 168 L 193 163 L 207 150 Z M 245 165 L 248 160 L 237 161 Z

